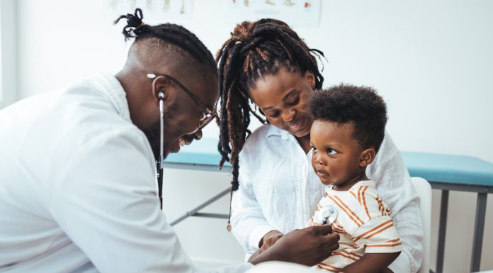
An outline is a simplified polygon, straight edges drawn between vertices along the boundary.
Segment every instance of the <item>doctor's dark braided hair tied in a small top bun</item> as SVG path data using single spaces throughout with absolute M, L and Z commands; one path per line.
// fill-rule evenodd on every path
M 205 48 L 205 45 L 198 40 L 197 36 L 191 33 L 183 26 L 176 25 L 174 23 L 162 23 L 156 26 L 149 26 L 142 22 L 141 9 L 135 9 L 135 13 L 128 13 L 118 17 L 113 23 L 118 23 L 121 19 L 127 20 L 127 25 L 123 28 L 123 35 L 125 41 L 130 38 L 135 38 L 135 41 L 145 40 L 149 38 L 157 38 L 163 40 L 165 43 L 176 45 L 183 51 L 197 60 L 200 64 L 203 64 L 210 68 L 214 73 L 217 73 L 216 62 L 212 53 Z

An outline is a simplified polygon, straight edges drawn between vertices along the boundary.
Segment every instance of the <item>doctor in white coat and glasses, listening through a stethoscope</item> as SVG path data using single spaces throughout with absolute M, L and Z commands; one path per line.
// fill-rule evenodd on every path
M 216 116 L 216 64 L 181 26 L 145 25 L 139 9 L 121 18 L 135 42 L 118 74 L 0 111 L 0 272 L 203 272 L 159 208 L 155 160 Z M 251 263 L 212 272 L 316 264 L 338 240 L 329 225 L 295 230 Z

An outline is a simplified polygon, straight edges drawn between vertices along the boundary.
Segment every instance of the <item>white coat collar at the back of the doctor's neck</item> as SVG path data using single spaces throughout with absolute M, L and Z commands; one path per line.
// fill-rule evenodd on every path
M 92 80 L 108 95 L 118 114 L 126 121 L 132 122 L 128 110 L 127 94 L 118 79 L 109 72 L 102 72 L 92 77 Z

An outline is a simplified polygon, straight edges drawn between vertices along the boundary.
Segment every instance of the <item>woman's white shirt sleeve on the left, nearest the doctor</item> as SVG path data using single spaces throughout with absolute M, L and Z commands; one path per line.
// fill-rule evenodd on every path
M 259 250 L 259 242 L 269 231 L 275 230 L 263 216 L 262 208 L 256 200 L 249 176 L 249 157 L 244 148 L 239 154 L 239 188 L 234 191 L 231 204 L 232 233 L 242 245 L 246 256 Z

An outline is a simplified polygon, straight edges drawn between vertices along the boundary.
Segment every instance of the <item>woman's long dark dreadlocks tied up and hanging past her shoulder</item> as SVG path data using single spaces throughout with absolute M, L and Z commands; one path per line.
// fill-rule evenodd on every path
M 267 123 L 257 107 L 251 108 L 249 88 L 260 77 L 276 74 L 281 68 L 300 73 L 310 70 L 315 75 L 315 88 L 322 88 L 324 77 L 317 66 L 317 55 L 323 53 L 308 48 L 294 30 L 275 19 L 240 23 L 217 52 L 221 99 L 217 147 L 222 157 L 220 166 L 225 161 L 232 165 L 233 191 L 239 186 L 238 155 L 250 133 L 250 113 Z

